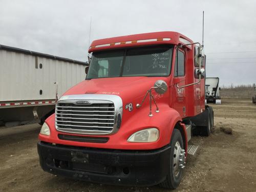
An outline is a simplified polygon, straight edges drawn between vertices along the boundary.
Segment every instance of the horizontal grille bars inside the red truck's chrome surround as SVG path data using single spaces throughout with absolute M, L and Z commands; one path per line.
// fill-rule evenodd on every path
M 89 105 L 76 104 L 76 101 L 64 100 L 56 104 L 57 130 L 80 134 L 109 134 L 113 131 L 115 105 L 112 101 L 93 100 Z

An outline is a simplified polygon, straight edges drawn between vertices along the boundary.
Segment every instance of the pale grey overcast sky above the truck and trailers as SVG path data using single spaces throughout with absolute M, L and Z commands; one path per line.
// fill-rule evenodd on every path
M 202 41 L 207 76 L 256 83 L 256 1 L 4 1 L 0 44 L 86 61 L 94 39 L 177 31 Z

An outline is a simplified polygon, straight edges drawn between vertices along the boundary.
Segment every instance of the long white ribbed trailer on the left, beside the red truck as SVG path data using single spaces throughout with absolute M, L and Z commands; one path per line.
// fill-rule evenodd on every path
M 42 123 L 61 96 L 85 79 L 88 63 L 0 45 L 0 124 Z

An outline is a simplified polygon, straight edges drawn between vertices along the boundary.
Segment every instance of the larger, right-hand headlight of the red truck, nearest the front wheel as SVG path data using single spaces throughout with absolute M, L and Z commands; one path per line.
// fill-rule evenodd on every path
M 138 131 L 131 135 L 128 142 L 154 142 L 159 138 L 159 131 L 156 128 L 150 128 Z

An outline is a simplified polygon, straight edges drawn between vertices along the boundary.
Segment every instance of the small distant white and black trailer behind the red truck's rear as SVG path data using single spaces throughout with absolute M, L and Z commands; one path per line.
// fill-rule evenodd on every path
M 219 77 L 205 78 L 205 103 L 221 104 Z

